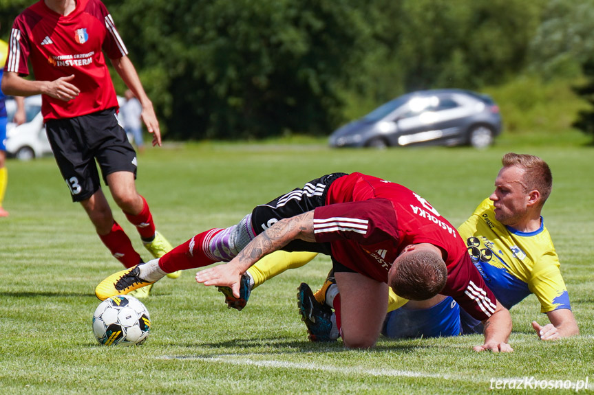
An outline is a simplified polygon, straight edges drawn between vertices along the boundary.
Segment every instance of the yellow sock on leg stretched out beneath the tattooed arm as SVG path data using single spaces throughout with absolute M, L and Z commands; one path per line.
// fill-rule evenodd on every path
M 315 258 L 315 256 L 317 256 L 317 253 L 315 252 L 286 251 L 275 251 L 270 255 L 265 256 L 248 269 L 248 272 L 254 279 L 254 286 L 252 289 L 287 269 L 302 267 L 304 264 Z

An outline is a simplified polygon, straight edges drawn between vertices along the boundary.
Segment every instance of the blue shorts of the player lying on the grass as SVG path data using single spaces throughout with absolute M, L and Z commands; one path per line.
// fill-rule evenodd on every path
M 433 307 L 410 310 L 406 305 L 385 316 L 382 335 L 394 339 L 449 337 L 461 332 L 460 306 L 451 296 Z

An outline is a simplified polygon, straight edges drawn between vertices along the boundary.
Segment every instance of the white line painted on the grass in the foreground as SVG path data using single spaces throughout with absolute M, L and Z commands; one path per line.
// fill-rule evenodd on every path
M 436 374 L 436 373 L 423 373 L 413 372 L 410 370 L 394 370 L 394 369 L 361 369 L 357 367 L 339 367 L 332 365 L 319 365 L 317 363 L 297 363 L 287 361 L 255 361 L 253 359 L 236 359 L 237 356 L 229 355 L 229 357 L 235 359 L 225 359 L 221 357 L 197 357 L 197 356 L 164 356 L 160 359 L 184 359 L 184 360 L 195 360 L 205 362 L 220 362 L 230 363 L 232 365 L 253 365 L 260 368 L 291 368 L 291 369 L 302 369 L 302 370 L 316 370 L 323 372 L 333 372 L 342 374 L 368 374 L 370 376 L 391 376 L 391 377 L 423 377 L 432 379 L 450 379 L 449 375 Z

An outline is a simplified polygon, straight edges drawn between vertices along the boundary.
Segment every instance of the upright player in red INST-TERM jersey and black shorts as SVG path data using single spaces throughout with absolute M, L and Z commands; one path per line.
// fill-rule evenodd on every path
M 142 262 L 114 221 L 95 161 L 145 247 L 155 258 L 169 251 L 171 245 L 155 230 L 147 201 L 136 192 L 136 153 L 118 124 L 118 100 L 104 52 L 142 103 L 142 119 L 153 133 L 153 146 L 161 146 L 159 124 L 105 5 L 99 0 L 41 0 L 14 20 L 9 46 L 2 90 L 10 95 L 43 95 L 47 137 L 72 201 L 83 205 L 112 255 L 125 267 Z M 29 74 L 28 60 L 36 80 L 24 78 Z

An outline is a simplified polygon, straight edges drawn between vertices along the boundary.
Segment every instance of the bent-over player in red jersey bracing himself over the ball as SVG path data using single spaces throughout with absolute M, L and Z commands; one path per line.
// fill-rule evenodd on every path
M 229 261 L 196 274 L 239 296 L 248 267 L 268 253 L 312 251 L 332 257 L 341 293 L 341 335 L 349 348 L 374 345 L 388 307 L 388 285 L 410 300 L 451 295 L 485 322 L 476 350 L 511 351 L 509 312 L 485 286 L 456 229 L 402 185 L 361 173 L 329 174 L 255 207 L 240 223 L 211 229 L 159 260 L 116 273 L 100 299 L 151 284 L 180 269 Z

